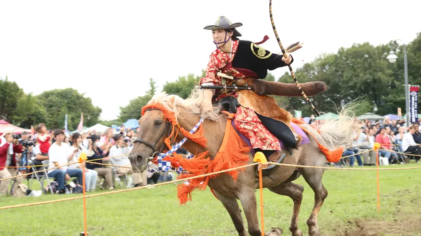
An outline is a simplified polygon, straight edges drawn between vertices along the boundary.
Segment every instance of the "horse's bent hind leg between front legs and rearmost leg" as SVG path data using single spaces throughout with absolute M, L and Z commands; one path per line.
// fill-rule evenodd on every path
M 280 195 L 289 196 L 294 201 L 294 210 L 292 211 L 289 230 L 291 231 L 292 236 L 303 236 L 301 230 L 298 229 L 298 214 L 300 213 L 301 200 L 303 200 L 303 186 L 293 182 L 287 182 L 269 188 L 269 190 Z

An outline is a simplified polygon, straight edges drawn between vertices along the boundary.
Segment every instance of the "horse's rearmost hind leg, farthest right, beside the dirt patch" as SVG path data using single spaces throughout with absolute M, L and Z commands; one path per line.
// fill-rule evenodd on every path
M 322 183 L 323 169 L 303 168 L 300 170 L 305 181 L 314 191 L 314 207 L 310 217 L 307 220 L 308 235 L 320 236 L 319 226 L 317 225 L 317 214 L 327 197 L 327 190 Z

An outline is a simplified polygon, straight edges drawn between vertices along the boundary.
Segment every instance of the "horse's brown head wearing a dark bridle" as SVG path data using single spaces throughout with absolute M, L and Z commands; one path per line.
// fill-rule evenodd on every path
M 163 151 L 164 139 L 171 132 L 171 123 L 159 109 L 147 109 L 139 120 L 140 132 L 129 154 L 133 172 L 144 172 L 151 157 Z

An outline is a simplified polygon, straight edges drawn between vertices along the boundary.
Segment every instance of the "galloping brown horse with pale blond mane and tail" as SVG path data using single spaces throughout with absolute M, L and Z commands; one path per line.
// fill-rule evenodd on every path
M 219 150 L 224 137 L 224 127 L 227 118 L 219 113 L 219 108 L 214 107 L 214 112 L 200 114 L 203 97 L 200 92 L 195 91 L 190 98 L 184 100 L 175 95 L 157 94 L 150 103 L 161 103 L 169 110 L 175 113 L 178 124 L 186 129 L 192 129 L 199 121 L 200 117 L 206 118 L 202 126 L 204 135 L 208 141 L 207 148 L 203 148 L 197 143 L 187 141 L 183 147 L 191 153 L 209 151 L 209 156 L 213 158 Z M 138 139 L 142 142 L 135 143 L 133 150 L 129 155 L 132 163 L 133 172 L 143 172 L 147 168 L 149 157 L 154 155 L 155 151 L 162 151 L 164 148 L 164 138 L 167 127 L 165 125 L 164 114 L 161 110 L 148 110 L 139 120 L 141 127 Z M 351 130 L 353 128 L 352 115 L 349 110 L 343 109 L 339 114 L 339 119 L 328 120 L 321 127 L 320 134 L 309 125 L 302 125 L 307 129 L 322 145 L 329 149 L 345 145 L 351 140 Z M 179 142 L 184 136 L 179 132 L 175 137 L 175 142 Z M 293 151 L 292 155 L 286 151 L 282 163 L 306 166 L 325 166 L 326 156 L 318 149 L 318 144 L 309 136 L 310 143 L 299 146 Z M 250 154 L 248 164 L 253 163 L 253 157 Z M 303 186 L 293 183 L 300 175 L 303 175 L 305 181 L 314 191 L 315 203 L 313 211 L 307 220 L 308 233 L 310 236 L 319 236 L 319 226 L 317 224 L 317 214 L 322 207 L 323 201 L 327 197 L 327 190 L 322 184 L 322 175 L 324 169 L 315 168 L 296 168 L 279 166 L 270 174 L 269 177 L 263 177 L 263 187 L 270 191 L 289 196 L 294 202 L 289 230 L 293 236 L 302 236 L 298 229 L 298 214 L 300 212 L 301 200 L 303 199 Z M 260 236 L 255 189 L 258 188 L 258 179 L 256 178 L 256 166 L 245 168 L 240 172 L 236 182 L 230 175 L 223 174 L 211 179 L 209 186 L 214 190 L 215 195 L 230 214 L 235 229 L 240 236 L 247 235 L 241 217 L 241 210 L 236 199 L 239 199 L 243 207 L 247 224 L 248 233 L 252 236 Z M 280 228 L 272 228 L 267 236 L 280 236 Z

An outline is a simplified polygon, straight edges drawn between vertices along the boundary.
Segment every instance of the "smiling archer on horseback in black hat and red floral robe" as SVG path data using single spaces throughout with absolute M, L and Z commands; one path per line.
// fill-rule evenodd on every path
M 206 67 L 206 77 L 200 79 L 200 86 L 221 86 L 222 78 L 217 76 L 217 72 L 234 76 L 235 79 L 257 80 L 265 78 L 267 70 L 274 70 L 293 62 L 289 54 L 284 58 L 259 46 L 258 44 L 268 39 L 267 36 L 260 43 L 239 40 L 241 34 L 236 30 L 239 26 L 242 26 L 242 23 L 231 23 L 222 16 L 213 25 L 204 28 L 212 30 L 216 49 L 211 53 Z M 214 89 L 204 89 L 202 112 L 212 111 L 212 100 L 216 102 L 224 97 L 237 98 L 237 96 L 235 91 L 215 94 Z M 254 109 L 238 106 L 235 112 L 235 127 L 250 139 L 252 149 L 281 151 L 279 139 L 262 124 L 259 117 Z

